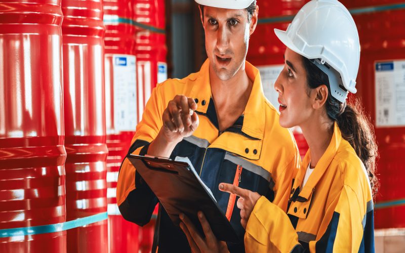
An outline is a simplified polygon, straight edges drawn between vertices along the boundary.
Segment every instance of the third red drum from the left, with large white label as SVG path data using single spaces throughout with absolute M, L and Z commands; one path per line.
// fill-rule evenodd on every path
M 124 220 L 116 202 L 119 167 L 138 122 L 132 4 L 130 0 L 104 0 L 103 8 L 109 248 L 110 252 L 138 252 L 139 227 Z

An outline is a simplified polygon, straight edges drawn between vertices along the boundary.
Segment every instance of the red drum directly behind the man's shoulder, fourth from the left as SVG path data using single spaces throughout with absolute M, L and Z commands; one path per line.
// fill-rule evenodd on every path
M 132 0 L 136 26 L 138 117 L 156 83 L 167 79 L 164 0 Z

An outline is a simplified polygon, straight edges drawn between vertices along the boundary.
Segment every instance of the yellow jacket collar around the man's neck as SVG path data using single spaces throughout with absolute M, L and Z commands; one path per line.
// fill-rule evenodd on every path
M 211 83 L 210 83 L 210 61 L 207 59 L 198 73 L 190 76 L 190 80 L 194 81 L 190 96 L 198 99 L 197 111 L 206 113 L 208 104 L 211 98 Z M 245 71 L 248 77 L 253 80 L 252 92 L 248 103 L 245 107 L 245 116 L 242 126 L 242 132 L 254 138 L 263 139 L 265 129 L 265 97 L 263 93 L 262 81 L 260 73 L 249 62 L 245 62 Z M 205 105 L 203 105 L 205 101 Z

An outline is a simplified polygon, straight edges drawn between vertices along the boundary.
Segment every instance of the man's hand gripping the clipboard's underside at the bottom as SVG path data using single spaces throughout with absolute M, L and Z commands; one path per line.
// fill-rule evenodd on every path
M 191 252 L 229 252 L 226 243 L 224 241 L 218 241 L 215 237 L 203 212 L 198 212 L 198 220 L 201 226 L 203 226 L 206 236 L 205 239 L 199 235 L 187 216 L 180 214 L 180 220 L 182 221 L 180 222 L 180 228 L 187 236 Z

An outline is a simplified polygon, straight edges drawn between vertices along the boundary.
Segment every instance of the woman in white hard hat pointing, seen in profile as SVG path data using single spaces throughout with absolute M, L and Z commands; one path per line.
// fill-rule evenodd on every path
M 281 126 L 299 125 L 309 150 L 292 184 L 287 214 L 265 197 L 230 184 L 239 195 L 250 252 L 374 252 L 372 195 L 377 146 L 370 123 L 348 105 L 359 65 L 356 26 L 337 1 L 305 5 L 287 31 L 285 67 L 274 88 Z M 367 89 L 365 87 L 365 89 Z

